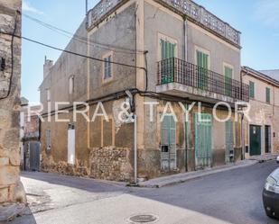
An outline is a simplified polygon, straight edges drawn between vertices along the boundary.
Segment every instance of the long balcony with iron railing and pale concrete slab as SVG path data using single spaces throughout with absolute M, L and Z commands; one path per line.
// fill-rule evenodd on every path
M 179 58 L 158 62 L 157 93 L 217 103 L 248 102 L 248 85 Z

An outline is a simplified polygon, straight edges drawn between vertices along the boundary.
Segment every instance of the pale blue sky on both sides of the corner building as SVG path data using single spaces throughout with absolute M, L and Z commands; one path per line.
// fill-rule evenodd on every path
M 278 0 L 195 0 L 211 13 L 241 31 L 241 64 L 257 70 L 279 68 Z M 88 0 L 89 8 L 98 0 Z M 63 30 L 75 32 L 85 17 L 85 0 L 23 0 L 23 14 Z M 68 37 L 23 16 L 24 37 L 64 49 Z M 22 96 L 40 102 L 44 57 L 56 60 L 60 51 L 23 40 Z

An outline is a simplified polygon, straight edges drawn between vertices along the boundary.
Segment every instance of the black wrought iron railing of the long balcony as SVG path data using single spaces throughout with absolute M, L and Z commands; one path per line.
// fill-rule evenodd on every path
M 179 58 L 158 62 L 158 85 L 178 83 L 240 101 L 249 101 L 248 85 Z

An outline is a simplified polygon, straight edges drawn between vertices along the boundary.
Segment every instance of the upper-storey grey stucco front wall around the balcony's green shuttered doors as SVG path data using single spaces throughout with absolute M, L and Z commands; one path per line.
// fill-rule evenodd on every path
M 158 35 L 171 38 L 177 42 L 177 57 L 192 64 L 196 63 L 196 48 L 209 51 L 209 69 L 224 75 L 224 63 L 233 67 L 233 78 L 240 80 L 240 49 L 230 45 L 195 25 L 187 22 L 186 26 L 186 58 L 185 36 L 182 17 L 153 1 L 144 2 L 144 49 L 148 50 L 149 89 L 154 91 L 157 85 L 157 63 L 160 60 Z

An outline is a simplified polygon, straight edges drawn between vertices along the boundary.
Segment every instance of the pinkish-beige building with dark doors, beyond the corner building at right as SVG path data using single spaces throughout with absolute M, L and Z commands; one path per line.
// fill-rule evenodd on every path
M 241 70 L 243 82 L 249 85 L 251 106 L 250 121 L 246 119 L 244 125 L 246 157 L 279 152 L 279 81 L 273 78 L 274 70 L 270 72 L 251 67 Z

